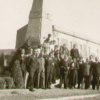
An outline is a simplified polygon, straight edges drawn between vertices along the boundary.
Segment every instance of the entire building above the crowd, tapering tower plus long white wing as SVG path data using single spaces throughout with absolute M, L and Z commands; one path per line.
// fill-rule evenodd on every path
M 27 39 L 32 38 L 32 46 L 43 43 L 48 34 L 52 34 L 58 45 L 67 44 L 69 50 L 77 44 L 80 55 L 100 57 L 100 43 L 71 32 L 63 32 L 51 24 L 50 13 L 44 11 L 45 0 L 33 0 L 27 25 L 17 31 L 16 48 L 20 48 Z

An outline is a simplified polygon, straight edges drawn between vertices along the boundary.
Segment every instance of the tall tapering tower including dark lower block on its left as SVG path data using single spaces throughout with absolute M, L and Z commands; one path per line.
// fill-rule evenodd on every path
M 50 13 L 45 10 L 45 0 L 33 0 L 28 25 L 17 31 L 16 48 L 28 39 L 32 46 L 39 45 L 48 34 L 52 34 L 52 24 Z

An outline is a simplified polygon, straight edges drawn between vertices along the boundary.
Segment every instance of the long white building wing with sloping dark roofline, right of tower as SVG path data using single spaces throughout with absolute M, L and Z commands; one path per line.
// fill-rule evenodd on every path
M 58 45 L 66 44 L 69 50 L 73 47 L 73 44 L 77 44 L 82 57 L 86 58 L 90 55 L 100 57 L 100 43 L 98 41 L 78 36 L 75 33 L 64 32 L 56 26 L 53 26 L 53 37 Z

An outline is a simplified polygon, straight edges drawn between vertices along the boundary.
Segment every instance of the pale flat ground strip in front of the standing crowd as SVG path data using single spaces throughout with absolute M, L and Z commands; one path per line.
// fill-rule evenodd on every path
M 84 90 L 84 89 L 36 89 L 34 92 L 30 92 L 26 89 L 23 90 L 1 90 L 0 100 L 37 100 L 37 99 L 47 99 L 47 98 L 57 98 L 70 97 L 70 96 L 81 96 L 90 94 L 99 94 L 97 90 Z M 93 98 L 93 100 L 100 100 L 100 96 Z M 81 100 L 81 99 L 74 99 Z M 88 99 L 82 99 L 88 100 Z M 92 100 L 92 99 L 91 99 Z

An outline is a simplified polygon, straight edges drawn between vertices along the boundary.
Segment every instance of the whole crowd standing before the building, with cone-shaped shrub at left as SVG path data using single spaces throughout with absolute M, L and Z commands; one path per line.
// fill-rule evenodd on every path
M 56 87 L 97 88 L 100 84 L 100 62 L 92 55 L 82 58 L 77 45 L 71 50 L 67 45 L 56 45 L 49 34 L 42 45 L 32 48 L 27 42 L 19 48 L 11 64 L 16 88 L 51 89 L 51 84 L 60 80 Z M 85 84 L 85 85 L 84 85 Z

